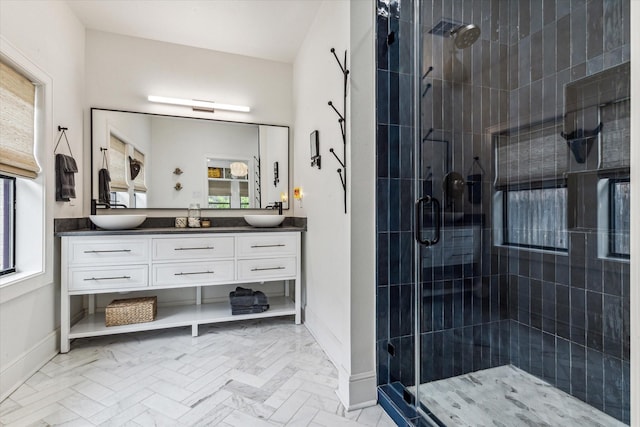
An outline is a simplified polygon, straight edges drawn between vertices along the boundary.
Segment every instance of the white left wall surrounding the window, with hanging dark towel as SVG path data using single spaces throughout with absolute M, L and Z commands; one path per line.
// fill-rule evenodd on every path
M 60 1 L 0 2 L 0 35 L 28 61 L 46 74 L 52 83 L 52 117 L 47 118 L 49 138 L 41 147 L 45 169 L 46 219 L 45 268 L 35 280 L 0 289 L 0 400 L 57 352 L 59 284 L 53 236 L 53 218 L 81 216 L 84 164 L 84 27 Z M 3 46 L 4 48 L 7 46 Z M 67 132 L 80 172 L 76 175 L 78 199 L 55 202 L 55 176 L 52 169 L 57 126 Z M 61 144 L 64 144 L 61 143 Z M 35 239 L 38 236 L 28 236 Z M 24 240 L 22 240 L 24 242 Z

